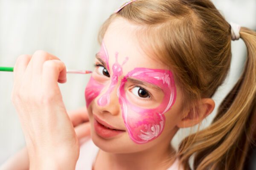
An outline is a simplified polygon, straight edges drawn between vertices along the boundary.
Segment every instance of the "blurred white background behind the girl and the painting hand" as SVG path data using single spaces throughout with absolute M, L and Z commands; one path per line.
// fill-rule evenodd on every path
M 99 50 L 99 27 L 126 0 L 0 0 L 0 66 L 14 66 L 21 54 L 44 50 L 59 57 L 70 69 L 93 69 Z M 256 0 L 213 0 L 226 17 L 256 30 Z M 242 40 L 232 42 L 232 65 L 227 81 L 214 96 L 216 106 L 238 79 L 246 55 Z M 67 110 L 85 105 L 84 88 L 90 75 L 68 75 L 61 84 Z M 0 164 L 25 146 L 10 96 L 11 72 L 0 72 Z M 216 111 L 216 110 L 215 110 Z M 215 112 L 204 122 L 207 126 Z M 188 130 L 180 130 L 177 146 Z

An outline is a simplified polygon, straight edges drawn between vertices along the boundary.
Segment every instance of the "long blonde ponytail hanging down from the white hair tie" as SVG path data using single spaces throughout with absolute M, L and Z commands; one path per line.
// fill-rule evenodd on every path
M 194 153 L 194 169 L 243 169 L 256 116 L 256 32 L 241 27 L 240 37 L 248 53 L 244 72 L 221 103 L 212 124 L 181 142 L 180 160 L 185 169 L 189 169 L 188 161 Z M 190 146 L 184 147 L 190 139 Z

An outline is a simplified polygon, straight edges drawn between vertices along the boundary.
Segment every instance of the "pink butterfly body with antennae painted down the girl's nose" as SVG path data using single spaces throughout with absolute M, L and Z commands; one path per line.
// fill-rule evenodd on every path
M 113 64 L 112 66 L 112 70 L 113 70 L 113 75 L 111 77 L 111 84 L 108 88 L 108 90 L 105 92 L 105 94 L 103 94 L 97 101 L 99 106 L 105 106 L 105 105 L 109 105 L 110 103 L 110 95 L 113 91 L 113 89 L 116 87 L 117 83 L 118 83 L 118 77 L 122 75 L 122 65 L 125 64 L 125 62 L 127 62 L 128 57 L 125 58 L 125 61 L 122 63 L 122 65 L 120 65 L 118 63 L 118 53 L 116 52 L 116 62 Z

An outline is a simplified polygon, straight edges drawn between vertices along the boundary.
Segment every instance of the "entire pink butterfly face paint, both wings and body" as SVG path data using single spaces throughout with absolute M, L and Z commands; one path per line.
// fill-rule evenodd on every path
M 106 63 L 109 71 L 108 52 L 105 48 L 104 42 L 102 42 L 99 55 L 101 56 L 102 61 Z M 111 84 L 109 86 L 108 83 L 101 82 L 93 77 L 90 78 L 85 89 L 87 107 L 93 99 L 99 96 L 104 88 L 108 89 L 97 100 L 97 104 L 99 106 L 110 104 L 110 95 L 118 85 L 119 77 L 123 74 L 122 66 L 128 60 L 128 57 L 126 57 L 125 61 L 120 65 L 118 63 L 118 53 L 116 53 L 115 57 L 116 61 L 112 66 L 113 73 L 111 77 Z M 126 95 L 127 91 L 125 90 L 125 85 L 131 78 L 159 87 L 164 94 L 162 102 L 155 108 L 147 108 L 129 98 Z M 108 79 L 108 81 L 109 80 L 110 79 Z M 161 69 L 134 68 L 134 70 L 128 72 L 128 74 L 126 74 L 121 80 L 117 89 L 117 96 L 121 105 L 125 127 L 130 138 L 137 144 L 150 142 L 162 133 L 165 125 L 165 116 L 163 113 L 170 110 L 176 99 L 176 88 L 172 72 Z

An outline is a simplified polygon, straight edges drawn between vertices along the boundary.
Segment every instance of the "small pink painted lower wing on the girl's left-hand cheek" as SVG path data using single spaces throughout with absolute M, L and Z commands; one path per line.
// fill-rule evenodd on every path
M 93 76 L 90 77 L 89 82 L 87 83 L 87 86 L 85 88 L 85 101 L 86 106 L 88 107 L 90 103 L 95 99 L 97 96 L 99 96 L 100 92 L 104 88 L 104 85 L 97 82 Z

